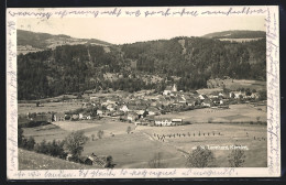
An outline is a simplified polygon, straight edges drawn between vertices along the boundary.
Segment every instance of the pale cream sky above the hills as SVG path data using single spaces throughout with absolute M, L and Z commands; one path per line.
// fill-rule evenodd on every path
M 34 18 L 18 19 L 20 30 L 98 39 L 112 44 L 134 43 L 176 36 L 202 36 L 229 30 L 265 31 L 265 17 L 199 18 Z

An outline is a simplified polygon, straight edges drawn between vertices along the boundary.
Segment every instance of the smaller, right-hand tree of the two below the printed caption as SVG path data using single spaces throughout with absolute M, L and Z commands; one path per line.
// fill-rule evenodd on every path
M 239 148 L 235 148 L 234 150 L 231 151 L 228 159 L 231 167 L 242 167 L 245 159 L 244 151 Z

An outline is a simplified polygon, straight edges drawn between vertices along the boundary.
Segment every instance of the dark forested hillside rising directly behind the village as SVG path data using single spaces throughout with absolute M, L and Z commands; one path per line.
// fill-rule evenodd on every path
M 19 99 L 87 89 L 163 90 L 173 80 L 177 80 L 178 89 L 189 90 L 206 87 L 209 78 L 224 76 L 265 80 L 265 39 L 232 43 L 175 37 L 118 46 L 63 45 L 20 54 Z

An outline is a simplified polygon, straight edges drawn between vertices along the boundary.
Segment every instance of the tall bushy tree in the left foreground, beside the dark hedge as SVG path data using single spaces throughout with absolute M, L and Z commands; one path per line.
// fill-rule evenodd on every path
M 72 157 L 78 161 L 81 152 L 84 151 L 84 145 L 88 141 L 84 131 L 72 132 L 64 140 L 65 148 L 72 154 Z

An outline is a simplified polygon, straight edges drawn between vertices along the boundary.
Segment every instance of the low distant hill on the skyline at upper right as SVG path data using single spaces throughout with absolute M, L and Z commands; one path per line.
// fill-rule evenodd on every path
M 265 39 L 266 32 L 263 31 L 248 31 L 248 30 L 234 30 L 215 32 L 204 35 L 202 37 L 208 39 Z

